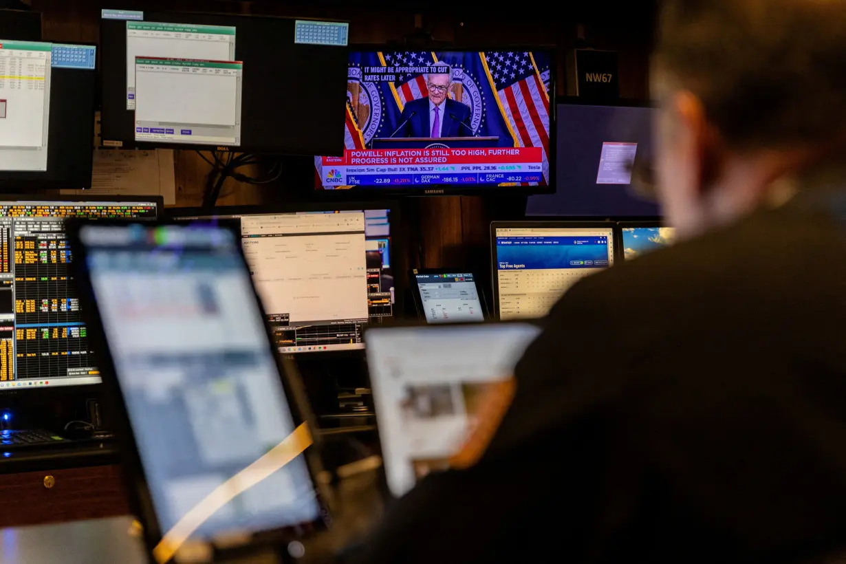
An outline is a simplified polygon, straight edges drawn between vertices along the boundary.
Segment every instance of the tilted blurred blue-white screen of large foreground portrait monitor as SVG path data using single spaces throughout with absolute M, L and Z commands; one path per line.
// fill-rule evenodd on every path
M 193 538 L 316 521 L 302 455 L 257 482 L 241 472 L 294 431 L 294 418 L 233 233 L 91 225 L 80 240 L 162 531 L 219 500 L 221 486 L 237 496 Z

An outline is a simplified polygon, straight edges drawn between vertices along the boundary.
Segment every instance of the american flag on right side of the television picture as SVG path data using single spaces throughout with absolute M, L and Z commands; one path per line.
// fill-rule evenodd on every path
M 486 52 L 505 119 L 521 147 L 543 147 L 543 182 L 549 182 L 549 96 L 529 52 Z

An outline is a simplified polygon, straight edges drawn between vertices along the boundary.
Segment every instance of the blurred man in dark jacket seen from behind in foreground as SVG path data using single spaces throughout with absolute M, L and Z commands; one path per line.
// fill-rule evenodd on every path
M 806 563 L 846 549 L 846 3 L 667 0 L 684 242 L 576 284 L 492 436 L 363 561 Z

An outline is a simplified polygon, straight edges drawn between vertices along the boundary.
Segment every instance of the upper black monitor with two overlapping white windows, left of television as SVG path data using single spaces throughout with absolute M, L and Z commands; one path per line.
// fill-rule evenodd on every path
M 291 155 L 343 148 L 349 24 L 102 10 L 102 140 Z

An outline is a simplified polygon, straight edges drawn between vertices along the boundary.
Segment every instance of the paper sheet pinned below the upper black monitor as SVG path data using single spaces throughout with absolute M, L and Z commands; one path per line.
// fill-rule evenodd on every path
M 161 195 L 165 205 L 176 205 L 173 151 L 94 151 L 91 189 L 62 190 L 62 194 Z

